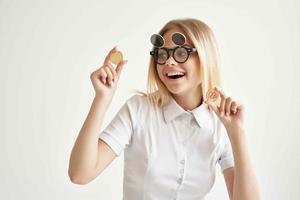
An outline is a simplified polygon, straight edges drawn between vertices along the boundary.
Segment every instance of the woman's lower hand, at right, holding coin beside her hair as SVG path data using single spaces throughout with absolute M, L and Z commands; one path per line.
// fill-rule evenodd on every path
M 227 130 L 236 130 L 243 127 L 244 107 L 234 101 L 231 97 L 227 97 L 223 91 L 215 87 L 221 96 L 221 103 L 205 101 L 205 103 L 213 109 L 220 118 Z

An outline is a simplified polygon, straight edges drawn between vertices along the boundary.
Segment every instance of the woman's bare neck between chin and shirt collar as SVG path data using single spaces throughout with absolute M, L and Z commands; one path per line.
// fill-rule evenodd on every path
M 173 94 L 172 96 L 177 104 L 184 110 L 193 110 L 202 104 L 201 85 L 194 91 L 188 91 L 183 94 Z

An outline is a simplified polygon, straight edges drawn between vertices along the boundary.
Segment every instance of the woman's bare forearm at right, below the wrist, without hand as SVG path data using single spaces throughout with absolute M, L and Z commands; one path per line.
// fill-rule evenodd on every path
M 244 130 L 228 131 L 235 163 L 233 200 L 259 200 L 259 184 L 250 160 Z

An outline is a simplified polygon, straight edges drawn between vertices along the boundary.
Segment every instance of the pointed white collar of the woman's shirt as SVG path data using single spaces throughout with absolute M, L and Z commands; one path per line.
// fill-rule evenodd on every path
M 213 131 L 212 111 L 209 110 L 208 105 L 205 103 L 202 103 L 200 106 L 191 111 L 185 111 L 177 104 L 174 98 L 171 97 L 170 102 L 163 107 L 163 115 L 166 123 L 169 123 L 180 115 L 189 113 L 191 113 L 195 118 L 199 127 L 206 127 Z

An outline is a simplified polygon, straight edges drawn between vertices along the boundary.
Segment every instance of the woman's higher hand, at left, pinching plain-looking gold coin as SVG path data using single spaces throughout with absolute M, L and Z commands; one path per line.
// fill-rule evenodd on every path
M 115 93 L 121 71 L 127 63 L 127 60 L 122 60 L 114 69 L 110 62 L 110 55 L 116 51 L 118 51 L 116 47 L 110 50 L 103 65 L 90 75 L 96 96 L 111 99 Z

